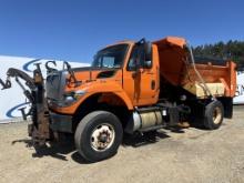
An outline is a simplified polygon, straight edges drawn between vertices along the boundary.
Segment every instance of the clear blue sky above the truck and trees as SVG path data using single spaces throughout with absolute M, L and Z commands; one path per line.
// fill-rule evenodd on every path
M 0 54 L 90 62 L 119 40 L 244 40 L 243 0 L 0 0 Z

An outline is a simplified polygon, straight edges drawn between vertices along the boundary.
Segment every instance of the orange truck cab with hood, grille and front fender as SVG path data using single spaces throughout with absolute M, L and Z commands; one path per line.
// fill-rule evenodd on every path
M 156 103 L 160 92 L 159 58 L 155 45 L 148 44 L 123 41 L 100 50 L 91 67 L 72 69 L 77 81 L 68 71 L 59 71 L 60 77 L 50 73 L 47 78 L 50 108 L 60 113 L 73 114 L 84 100 L 99 93 L 101 102 L 114 101 L 129 110 Z M 55 79 L 65 82 L 53 81 Z M 62 94 L 55 95 L 53 91 Z M 73 100 L 70 98 L 72 94 L 77 96 Z

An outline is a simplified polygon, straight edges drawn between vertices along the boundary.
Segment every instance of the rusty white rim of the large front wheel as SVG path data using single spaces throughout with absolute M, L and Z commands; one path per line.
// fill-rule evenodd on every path
M 114 128 L 108 123 L 98 125 L 91 134 L 91 146 L 94 151 L 105 151 L 113 144 L 115 138 Z

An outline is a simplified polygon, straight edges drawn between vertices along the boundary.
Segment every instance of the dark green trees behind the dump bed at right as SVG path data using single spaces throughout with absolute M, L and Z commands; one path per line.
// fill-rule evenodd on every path
M 238 69 L 244 70 L 244 41 L 230 40 L 197 45 L 193 48 L 193 53 L 196 57 L 233 60 L 237 63 Z

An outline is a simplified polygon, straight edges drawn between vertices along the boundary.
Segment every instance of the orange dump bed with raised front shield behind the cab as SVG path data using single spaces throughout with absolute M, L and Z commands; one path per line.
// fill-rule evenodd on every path
M 171 84 L 182 87 L 197 98 L 209 95 L 205 87 L 215 96 L 234 96 L 236 88 L 234 62 L 197 59 L 194 64 L 190 48 L 182 38 L 167 37 L 153 43 L 159 50 L 160 74 Z

